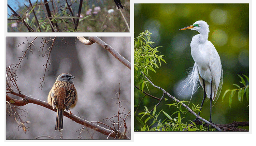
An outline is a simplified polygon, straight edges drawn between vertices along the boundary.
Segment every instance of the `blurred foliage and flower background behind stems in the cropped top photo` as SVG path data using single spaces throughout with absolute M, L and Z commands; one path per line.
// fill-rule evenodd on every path
M 68 1 L 69 4 L 71 4 L 70 2 L 72 3 L 71 9 L 73 11 L 74 17 L 77 17 L 80 1 L 78 0 Z M 16 12 L 20 16 L 24 16 L 26 22 L 35 30 L 38 25 L 35 23 L 34 14 L 32 13 L 32 11 L 30 11 L 31 9 L 27 11 L 28 8 L 24 6 L 24 4 L 26 4 L 27 6 L 30 6 L 29 3 L 27 3 L 27 0 L 15 1 L 15 3 L 17 3 L 18 5 L 18 10 Z M 40 0 L 38 1 L 38 3 L 41 3 Z M 122 9 L 122 12 L 129 24 L 130 1 L 121 0 L 121 3 L 125 6 L 125 9 L 124 10 Z M 9 4 L 9 1 L 8 1 L 8 4 Z M 56 8 L 56 5 L 57 5 L 57 8 Z M 71 17 L 72 16 L 70 11 L 66 10 L 65 0 L 54 1 L 55 11 L 53 11 L 52 6 L 53 4 L 52 2 L 50 2 L 49 7 L 51 10 L 52 17 Z M 12 9 L 15 9 L 15 7 Z M 56 9 L 58 9 L 57 12 L 56 12 Z M 39 24 L 43 22 L 43 20 L 45 20 L 45 12 L 43 10 L 45 10 L 45 6 L 44 6 L 44 9 L 41 7 L 41 5 L 34 7 L 34 11 L 39 20 Z M 25 12 L 27 13 L 25 14 Z M 8 14 L 8 19 L 17 18 L 17 17 L 10 16 L 11 14 L 13 14 L 13 12 Z M 102 31 L 128 32 L 129 31 L 126 27 L 126 24 L 122 15 L 120 14 L 113 0 L 98 0 L 98 1 L 84 0 L 80 17 L 83 17 L 83 18 L 86 17 L 86 19 L 80 19 L 79 25 L 77 27 L 78 32 L 102 32 Z M 59 18 L 57 20 L 58 20 L 58 27 L 60 28 L 61 32 L 74 31 L 74 24 L 73 24 L 72 18 L 62 18 L 62 19 Z M 41 29 L 42 29 L 42 32 L 52 31 L 51 27 L 49 26 L 48 20 L 44 22 Z M 16 20 L 8 20 L 8 32 L 27 32 L 27 31 L 28 31 L 27 27 L 24 24 L 22 24 L 22 22 L 16 21 Z

